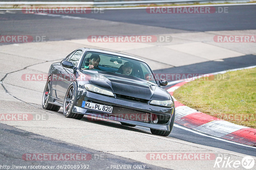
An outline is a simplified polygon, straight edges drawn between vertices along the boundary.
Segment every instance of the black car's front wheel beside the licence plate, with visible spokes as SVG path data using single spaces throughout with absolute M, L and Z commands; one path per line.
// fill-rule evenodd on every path
M 63 115 L 65 117 L 70 117 L 73 119 L 82 119 L 84 117 L 83 114 L 73 113 L 72 109 L 74 107 L 75 96 L 77 92 L 76 82 L 73 82 L 67 90 L 65 95 L 64 103 L 63 103 Z

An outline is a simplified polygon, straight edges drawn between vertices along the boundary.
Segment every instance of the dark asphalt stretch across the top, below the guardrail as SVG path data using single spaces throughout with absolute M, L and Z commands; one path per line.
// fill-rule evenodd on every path
M 89 35 L 98 35 L 99 33 L 102 35 L 116 35 L 117 33 L 118 35 L 155 35 L 180 32 L 250 30 L 256 29 L 255 6 L 227 6 L 228 15 L 226 13 L 148 14 L 145 9 L 103 10 L 104 13 L 68 14 L 72 17 L 91 19 L 86 22 L 81 22 L 80 19 L 65 19 L 65 17 L 57 15 L 31 15 L 23 14 L 22 11 L 15 11 L 16 14 L 14 15 L 12 13 L 1 15 L 0 21 L 8 21 L 8 24 L 1 24 L 0 29 L 2 35 L 11 33 L 46 35 L 46 40 L 51 41 L 83 39 Z M 92 19 L 99 20 L 95 22 Z M 106 23 L 103 21 L 122 22 L 123 24 L 116 25 L 113 22 Z M 124 23 L 136 24 L 131 25 L 136 30 L 131 29 L 130 25 Z

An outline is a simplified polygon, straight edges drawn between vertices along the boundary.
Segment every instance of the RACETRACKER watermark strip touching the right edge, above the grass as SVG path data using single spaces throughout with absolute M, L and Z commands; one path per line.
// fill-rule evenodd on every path
M 214 42 L 256 42 L 256 35 L 215 35 Z

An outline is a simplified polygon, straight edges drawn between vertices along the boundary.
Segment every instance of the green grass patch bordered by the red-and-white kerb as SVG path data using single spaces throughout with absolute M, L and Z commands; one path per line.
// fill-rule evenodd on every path
M 190 81 L 175 90 L 173 96 L 208 115 L 256 128 L 256 68 L 227 74 L 228 80 L 212 80 L 210 77 L 212 81 Z

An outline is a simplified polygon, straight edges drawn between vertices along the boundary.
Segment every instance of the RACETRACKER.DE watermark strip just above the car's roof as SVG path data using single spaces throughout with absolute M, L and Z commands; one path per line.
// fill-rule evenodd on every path
M 172 42 L 170 35 L 90 35 L 87 37 L 89 42 Z

